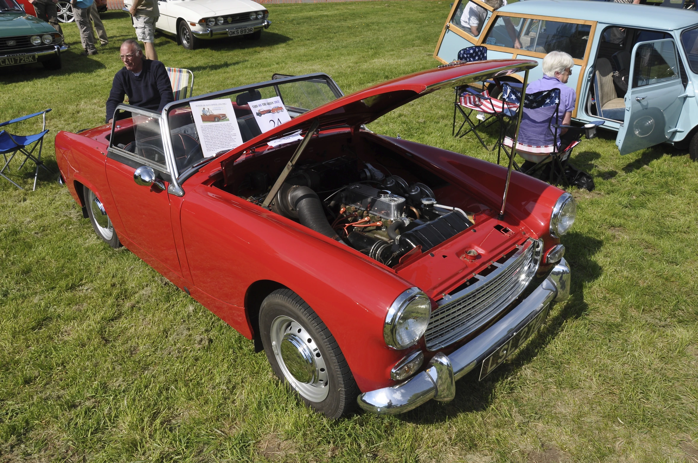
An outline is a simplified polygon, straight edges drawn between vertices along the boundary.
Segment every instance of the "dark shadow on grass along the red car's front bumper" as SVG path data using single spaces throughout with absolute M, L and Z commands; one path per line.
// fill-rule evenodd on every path
M 511 377 L 523 365 L 530 363 L 560 333 L 566 320 L 578 319 L 588 311 L 588 304 L 584 301 L 584 288 L 602 274 L 602 268 L 593 256 L 600 250 L 603 242 L 593 236 L 574 232 L 564 236 L 562 241 L 570 251 L 565 255 L 565 259 L 572 268 L 572 287 L 570 298 L 562 303 L 561 310 L 553 310 L 554 314 L 547 319 L 541 330 L 524 344 L 523 349 L 488 377 L 479 381 L 480 365 L 477 365 L 472 372 L 456 382 L 454 400 L 445 403 L 430 400 L 413 411 L 398 415 L 400 420 L 415 424 L 440 423 L 461 413 L 484 411 L 496 396 L 494 391 L 501 380 Z

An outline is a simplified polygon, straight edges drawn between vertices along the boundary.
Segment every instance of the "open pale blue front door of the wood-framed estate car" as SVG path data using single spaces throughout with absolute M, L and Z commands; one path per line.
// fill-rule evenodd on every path
M 685 93 L 674 39 L 639 42 L 631 56 L 625 118 L 616 138 L 621 154 L 666 142 L 676 129 Z

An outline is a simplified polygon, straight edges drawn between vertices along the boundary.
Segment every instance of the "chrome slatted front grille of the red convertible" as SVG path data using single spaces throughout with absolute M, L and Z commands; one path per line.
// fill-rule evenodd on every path
M 517 246 L 509 259 L 487 276 L 474 275 L 477 282 L 438 301 L 431 312 L 424 339 L 426 348 L 436 351 L 487 324 L 521 294 L 540 264 L 542 243 L 531 238 Z

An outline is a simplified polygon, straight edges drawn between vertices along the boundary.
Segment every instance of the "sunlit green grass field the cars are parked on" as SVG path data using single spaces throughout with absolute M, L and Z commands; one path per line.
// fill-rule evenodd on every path
M 270 5 L 259 41 L 156 46 L 195 93 L 272 73 L 332 75 L 345 93 L 436 66 L 449 2 Z M 118 46 L 64 69 L 6 68 L 0 120 L 46 107 L 52 137 L 104 121 Z M 452 93 L 371 125 L 493 160 L 450 136 Z M 27 123 L 22 130 L 35 130 Z M 621 157 L 614 137 L 574 153 L 593 192 L 563 238 L 572 297 L 511 360 L 456 399 L 402 416 L 329 421 L 299 403 L 252 343 L 125 249 L 98 240 L 65 188 L 0 179 L 0 462 L 698 462 L 698 164 L 657 146 Z M 696 442 L 693 441 L 696 439 Z

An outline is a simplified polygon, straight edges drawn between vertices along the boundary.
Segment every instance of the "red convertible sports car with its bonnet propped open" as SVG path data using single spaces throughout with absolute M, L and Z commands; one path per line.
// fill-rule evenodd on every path
M 306 404 L 401 413 L 452 400 L 459 378 L 489 374 L 567 298 L 560 236 L 576 206 L 364 124 L 535 66 L 442 66 L 349 96 L 325 74 L 275 77 L 162 113 L 121 105 L 130 117 L 112 126 L 59 132 L 57 160 L 98 236 L 253 340 Z M 273 96 L 293 119 L 262 133 L 248 102 Z M 204 158 L 191 103 L 213 98 L 232 100 L 244 144 Z

